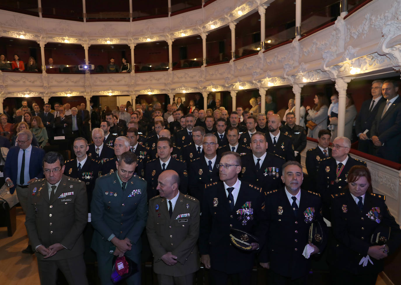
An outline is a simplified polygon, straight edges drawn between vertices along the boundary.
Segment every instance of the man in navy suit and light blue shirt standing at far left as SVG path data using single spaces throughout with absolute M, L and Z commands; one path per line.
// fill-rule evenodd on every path
M 43 177 L 42 160 L 45 151 L 38 147 L 32 147 L 32 133 L 22 130 L 17 134 L 18 146 L 11 147 L 4 165 L 5 181 L 10 183 L 10 193 L 17 192 L 18 201 L 22 210 L 26 213 L 28 208 L 29 184 Z M 33 253 L 30 244 L 22 251 Z

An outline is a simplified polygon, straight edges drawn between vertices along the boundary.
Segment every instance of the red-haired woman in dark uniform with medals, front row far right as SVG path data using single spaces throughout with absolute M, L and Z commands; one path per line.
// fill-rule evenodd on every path
M 375 285 L 383 259 L 401 243 L 401 230 L 385 196 L 372 193 L 367 167 L 351 167 L 347 179 L 348 189 L 332 195 L 334 239 L 328 255 L 332 282 Z

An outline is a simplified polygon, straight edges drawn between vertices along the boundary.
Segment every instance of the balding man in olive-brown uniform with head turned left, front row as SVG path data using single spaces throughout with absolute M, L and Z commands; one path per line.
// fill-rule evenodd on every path
M 174 170 L 158 177 L 160 195 L 150 199 L 146 232 L 159 284 L 193 283 L 198 271 L 199 201 L 182 194 Z

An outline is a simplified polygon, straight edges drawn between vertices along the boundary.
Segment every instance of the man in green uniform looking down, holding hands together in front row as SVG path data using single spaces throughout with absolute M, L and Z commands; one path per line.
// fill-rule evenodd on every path
M 148 216 L 146 182 L 134 175 L 136 155 L 123 153 L 117 171 L 99 177 L 91 203 L 95 229 L 92 249 L 96 252 L 102 285 L 110 280 L 114 256 L 126 256 L 138 265 L 138 272 L 126 279 L 128 285 L 141 284 L 141 234 Z

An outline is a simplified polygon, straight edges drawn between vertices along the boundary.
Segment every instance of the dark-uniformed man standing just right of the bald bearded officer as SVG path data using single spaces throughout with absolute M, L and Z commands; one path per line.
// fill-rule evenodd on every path
M 289 136 L 294 146 L 295 160 L 301 163 L 301 152 L 306 147 L 306 132 L 302 126 L 295 124 L 295 114 L 286 114 L 286 124 L 280 128 L 280 132 Z

